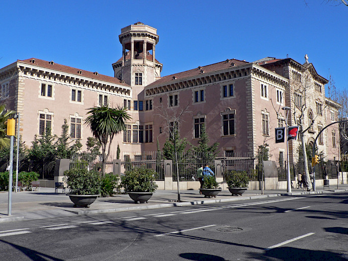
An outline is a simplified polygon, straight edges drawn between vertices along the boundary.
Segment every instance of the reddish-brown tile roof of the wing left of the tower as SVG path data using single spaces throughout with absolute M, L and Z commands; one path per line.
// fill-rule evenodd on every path
M 35 63 L 32 63 L 31 62 L 32 60 L 35 60 Z M 127 84 L 122 84 L 122 82 L 119 79 L 111 77 L 111 76 L 106 76 L 106 75 L 102 75 L 102 74 L 95 75 L 94 73 L 86 71 L 86 70 L 81 70 L 81 69 L 77 69 L 77 68 L 73 68 L 73 67 L 69 67 L 69 66 L 65 66 L 65 65 L 61 65 L 61 64 L 56 64 L 56 63 L 51 64 L 51 62 L 36 59 L 36 58 L 30 58 L 30 59 L 26 59 L 26 60 L 17 60 L 17 61 L 28 64 L 28 65 L 35 65 L 35 66 L 43 67 L 46 69 L 59 71 L 62 73 L 73 74 L 73 75 L 76 75 L 79 77 L 87 77 L 87 78 L 91 78 L 94 80 L 99 80 L 99 81 L 109 82 L 112 84 L 130 87 Z M 82 74 L 79 73 L 80 71 L 82 72 Z

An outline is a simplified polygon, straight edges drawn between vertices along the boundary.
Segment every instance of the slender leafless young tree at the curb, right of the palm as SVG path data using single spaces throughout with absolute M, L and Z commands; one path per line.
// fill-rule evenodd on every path
M 166 109 L 161 103 L 160 106 L 156 107 L 159 115 L 165 122 L 164 130 L 168 133 L 170 140 L 174 145 L 174 157 L 175 157 L 175 167 L 176 167 L 176 178 L 177 178 L 177 202 L 180 202 L 180 188 L 179 188 L 179 166 L 177 162 L 177 135 L 179 135 L 179 127 L 184 122 L 183 117 L 185 114 L 191 114 L 191 111 L 188 110 L 189 104 L 183 108 L 173 108 L 170 107 Z

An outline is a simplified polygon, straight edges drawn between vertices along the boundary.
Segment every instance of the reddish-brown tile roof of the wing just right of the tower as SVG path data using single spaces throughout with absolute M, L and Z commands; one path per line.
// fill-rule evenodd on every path
M 236 59 L 227 59 L 226 61 L 219 62 L 216 64 L 199 66 L 196 69 L 192 69 L 192 70 L 184 71 L 181 73 L 164 76 L 161 79 L 159 79 L 156 82 L 149 85 L 148 87 L 157 86 L 157 85 L 164 85 L 164 84 L 166 84 L 170 81 L 173 81 L 173 80 L 180 80 L 180 79 L 194 77 L 194 76 L 198 77 L 202 74 L 212 73 L 215 71 L 220 71 L 220 70 L 224 70 L 224 69 L 231 68 L 234 66 L 245 65 L 245 64 L 248 64 L 248 62 L 236 60 Z

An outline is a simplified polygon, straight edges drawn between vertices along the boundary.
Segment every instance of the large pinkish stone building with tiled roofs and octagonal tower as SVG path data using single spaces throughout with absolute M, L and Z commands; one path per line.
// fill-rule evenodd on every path
M 204 123 L 211 143 L 220 144 L 221 155 L 255 156 L 258 146 L 268 144 L 272 160 L 281 162 L 286 143 L 275 144 L 274 128 L 285 126 L 282 107 L 291 108 L 288 123 L 296 125 L 298 107 L 305 102 L 305 124 L 314 120 L 305 134 L 309 143 L 320 128 L 337 119 L 339 104 L 325 97 L 328 81 L 308 62 L 270 57 L 255 62 L 226 59 L 161 77 L 163 65 L 155 52 L 157 29 L 138 22 L 122 28 L 119 41 L 122 57 L 112 64 L 114 77 L 36 58 L 17 60 L 0 69 L 1 102 L 21 113 L 20 132 L 28 146 L 46 126 L 59 136 L 64 119 L 71 139 L 81 139 L 85 145 L 92 136 L 83 124 L 87 109 L 109 104 L 127 107 L 132 117 L 127 130 L 113 140 L 114 154 L 117 144 L 124 154 L 156 151 L 157 139 L 162 148 L 167 138 L 159 108 L 174 113 L 187 107 L 190 113 L 182 117 L 181 138 L 197 145 Z M 310 95 L 301 96 L 296 86 L 303 82 L 304 74 L 310 79 Z M 319 139 L 319 150 L 328 159 L 338 157 L 337 137 L 338 129 L 332 126 Z M 298 141 L 290 142 L 290 162 L 297 159 L 297 146 Z

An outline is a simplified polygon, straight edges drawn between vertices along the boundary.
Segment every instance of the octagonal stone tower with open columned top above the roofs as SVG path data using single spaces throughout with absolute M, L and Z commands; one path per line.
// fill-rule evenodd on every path
M 112 64 L 114 76 L 132 87 L 143 87 L 161 77 L 162 64 L 155 59 L 157 29 L 137 22 L 121 29 L 122 58 Z

